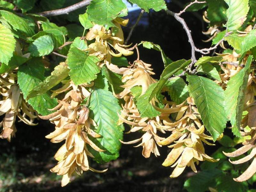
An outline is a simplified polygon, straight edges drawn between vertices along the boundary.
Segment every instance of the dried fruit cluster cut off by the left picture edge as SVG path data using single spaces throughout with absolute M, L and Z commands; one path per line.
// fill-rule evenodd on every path
M 0 116 L 4 115 L 0 123 L 2 132 L 1 139 L 11 141 L 17 129 L 15 127 L 16 117 L 28 125 L 37 125 L 33 121 L 37 118 L 36 111 L 23 99 L 23 95 L 17 84 L 17 70 L 4 73 L 0 76 Z

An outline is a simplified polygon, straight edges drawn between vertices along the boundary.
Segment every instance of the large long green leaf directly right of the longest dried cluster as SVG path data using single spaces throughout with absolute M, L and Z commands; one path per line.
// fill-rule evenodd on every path
M 124 126 L 117 125 L 119 119 L 117 113 L 121 110 L 118 100 L 112 95 L 111 92 L 96 89 L 92 92 L 90 103 L 90 118 L 96 123 L 95 127 L 97 133 L 102 137 L 92 141 L 100 148 L 105 149 L 104 152 L 97 152 L 91 150 L 94 160 L 98 163 L 105 163 L 115 160 L 119 156 L 121 143 L 123 140 Z

